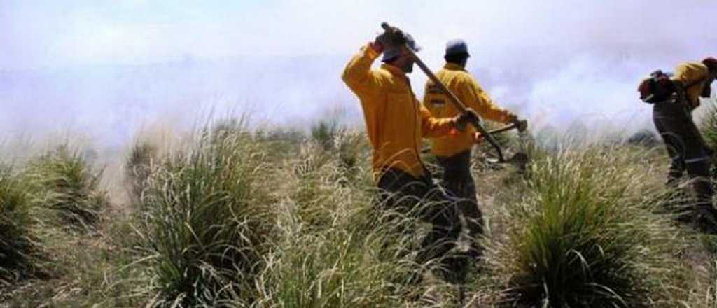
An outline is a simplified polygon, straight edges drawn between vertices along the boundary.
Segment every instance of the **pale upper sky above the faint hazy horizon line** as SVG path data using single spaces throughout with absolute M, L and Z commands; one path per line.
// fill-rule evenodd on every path
M 717 44 L 716 1 L 443 2 L 4 0 L 0 67 L 137 64 L 187 54 L 343 54 L 371 39 L 380 21 L 413 32 L 429 50 L 465 37 L 481 57 L 537 47 L 703 49 L 695 52 L 701 56 Z M 541 60 L 541 54 L 524 56 Z

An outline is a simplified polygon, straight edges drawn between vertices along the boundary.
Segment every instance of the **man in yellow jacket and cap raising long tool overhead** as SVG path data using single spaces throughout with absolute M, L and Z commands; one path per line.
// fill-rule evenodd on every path
M 455 117 L 437 118 L 416 99 L 407 76 L 414 61 L 399 46 L 419 50 L 409 34 L 384 32 L 355 54 L 343 71 L 343 81 L 359 97 L 366 131 L 373 148 L 374 180 L 382 191 L 382 206 L 390 211 L 418 211 L 432 229 L 422 241 L 417 263 L 437 261 L 447 280 L 462 279 L 465 259 L 456 251 L 461 231 L 455 201 L 433 182 L 419 156 L 422 138 L 464 130 L 478 116 L 473 110 Z M 381 67 L 371 64 L 381 55 Z M 428 202 L 424 202 L 428 201 Z

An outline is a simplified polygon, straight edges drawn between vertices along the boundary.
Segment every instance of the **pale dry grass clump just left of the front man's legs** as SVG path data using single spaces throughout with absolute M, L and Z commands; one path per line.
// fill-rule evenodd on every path
M 380 223 L 370 186 L 344 181 L 341 159 L 324 152 L 303 148 L 287 162 L 300 168 L 277 178 L 285 196 L 276 249 L 261 274 L 260 307 L 403 307 L 405 295 L 422 292 L 404 286 L 416 269 L 402 254 L 412 237 Z

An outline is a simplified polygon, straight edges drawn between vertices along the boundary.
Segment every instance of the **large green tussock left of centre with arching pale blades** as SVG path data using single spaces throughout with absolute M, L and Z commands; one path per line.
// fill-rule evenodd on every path
M 255 202 L 267 173 L 240 131 L 203 134 L 148 178 L 138 230 L 159 292 L 158 307 L 227 306 L 250 299 L 272 236 L 270 208 Z

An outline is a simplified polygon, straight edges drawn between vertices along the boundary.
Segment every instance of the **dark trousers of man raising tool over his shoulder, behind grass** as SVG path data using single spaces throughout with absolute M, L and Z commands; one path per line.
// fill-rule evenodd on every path
M 417 216 L 432 224 L 431 230 L 422 240 L 417 263 L 426 264 L 440 259 L 440 264 L 452 267 L 449 252 L 455 248 L 461 231 L 455 201 L 429 178 L 415 178 L 397 169 L 384 171 L 378 186 L 382 208 Z

